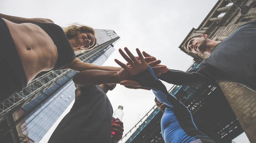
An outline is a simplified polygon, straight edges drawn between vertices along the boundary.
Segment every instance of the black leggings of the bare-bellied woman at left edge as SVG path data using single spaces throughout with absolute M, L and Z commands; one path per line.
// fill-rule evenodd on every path
M 0 103 L 27 85 L 20 56 L 12 35 L 0 17 Z

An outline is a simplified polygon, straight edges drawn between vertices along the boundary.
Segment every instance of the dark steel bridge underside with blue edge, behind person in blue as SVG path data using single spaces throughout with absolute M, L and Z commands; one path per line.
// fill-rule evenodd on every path
M 188 70 L 198 65 L 193 63 Z M 173 86 L 169 93 L 189 109 L 198 129 L 216 143 L 231 143 L 244 132 L 218 84 Z M 164 143 L 160 126 L 162 116 L 163 112 L 154 106 L 120 143 Z

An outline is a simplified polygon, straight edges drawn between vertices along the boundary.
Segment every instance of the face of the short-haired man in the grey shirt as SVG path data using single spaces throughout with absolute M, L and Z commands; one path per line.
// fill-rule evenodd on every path
M 206 47 L 207 40 L 206 40 L 206 38 L 204 37 L 204 35 L 202 37 L 192 38 L 191 40 L 189 40 L 186 48 L 189 51 L 191 51 L 192 53 L 202 54 L 207 50 L 207 47 Z

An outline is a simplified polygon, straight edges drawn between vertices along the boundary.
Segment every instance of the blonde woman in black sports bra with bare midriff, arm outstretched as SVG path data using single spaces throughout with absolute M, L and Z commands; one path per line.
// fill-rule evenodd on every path
M 95 31 L 72 25 L 62 29 L 52 20 L 0 14 L 0 102 L 25 88 L 40 72 L 73 69 L 119 71 L 75 57 L 74 51 L 93 49 Z

